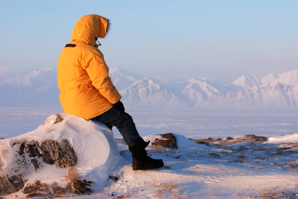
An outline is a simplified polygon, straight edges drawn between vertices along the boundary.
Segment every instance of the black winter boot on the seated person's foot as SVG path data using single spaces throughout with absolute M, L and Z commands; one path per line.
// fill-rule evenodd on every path
M 150 142 L 150 141 L 149 141 Z M 132 169 L 133 170 L 149 170 L 160 168 L 164 166 L 162 159 L 156 160 L 150 158 L 147 155 L 145 148 L 149 145 L 149 142 L 137 141 L 132 142 L 129 146 L 132 154 Z

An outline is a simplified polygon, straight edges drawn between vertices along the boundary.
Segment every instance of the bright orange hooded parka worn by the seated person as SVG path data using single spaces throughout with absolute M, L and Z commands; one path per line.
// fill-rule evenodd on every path
M 81 17 L 75 23 L 72 41 L 59 56 L 59 99 L 67 114 L 90 119 L 108 111 L 121 98 L 103 54 L 94 47 L 95 37 L 105 37 L 107 26 L 108 19 L 99 15 Z

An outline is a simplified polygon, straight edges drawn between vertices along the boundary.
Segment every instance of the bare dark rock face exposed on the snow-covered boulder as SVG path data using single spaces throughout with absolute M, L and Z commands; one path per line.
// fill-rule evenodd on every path
M 62 143 L 56 140 L 15 141 L 16 153 L 12 167 L 0 170 L 0 195 L 8 195 L 23 188 L 28 172 L 37 171 L 45 164 L 58 167 L 71 167 L 77 164 L 75 149 L 64 139 Z

